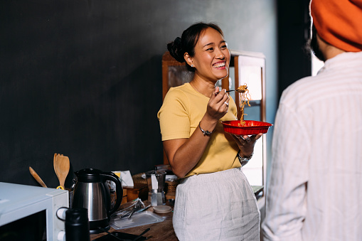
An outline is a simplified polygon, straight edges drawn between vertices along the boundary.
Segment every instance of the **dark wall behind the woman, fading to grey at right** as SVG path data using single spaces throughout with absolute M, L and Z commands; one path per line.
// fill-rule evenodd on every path
M 55 153 L 70 158 L 67 187 L 81 168 L 135 174 L 162 164 L 166 43 L 214 21 L 230 48 L 267 56 L 273 87 L 275 13 L 270 0 L 0 1 L 0 181 L 38 186 L 31 166 L 58 186 Z

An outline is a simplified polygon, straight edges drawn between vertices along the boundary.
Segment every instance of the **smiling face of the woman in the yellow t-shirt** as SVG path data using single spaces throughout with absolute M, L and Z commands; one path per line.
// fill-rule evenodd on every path
M 195 73 L 203 80 L 217 81 L 228 75 L 230 51 L 223 36 L 213 28 L 201 34 L 191 59 Z

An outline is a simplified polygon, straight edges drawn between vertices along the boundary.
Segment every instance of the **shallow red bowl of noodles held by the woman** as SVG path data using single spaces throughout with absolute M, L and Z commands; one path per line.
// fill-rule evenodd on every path
M 230 134 L 236 135 L 255 135 L 265 134 L 272 124 L 267 122 L 257 122 L 251 120 L 245 120 L 243 126 L 240 125 L 240 120 L 232 120 L 221 122 L 224 126 L 224 131 Z

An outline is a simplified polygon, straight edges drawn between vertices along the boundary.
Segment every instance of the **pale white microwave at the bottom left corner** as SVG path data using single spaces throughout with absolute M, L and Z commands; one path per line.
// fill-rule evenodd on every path
M 0 241 L 65 240 L 60 208 L 69 208 L 68 191 L 0 182 Z

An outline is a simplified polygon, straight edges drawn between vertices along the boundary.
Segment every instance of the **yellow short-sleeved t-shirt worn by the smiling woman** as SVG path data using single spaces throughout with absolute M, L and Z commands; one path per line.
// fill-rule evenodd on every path
M 198 123 L 206 112 L 209 100 L 210 98 L 194 90 L 189 83 L 171 87 L 157 114 L 162 141 L 189 138 L 198 128 Z M 237 119 L 236 114 L 235 102 L 230 97 L 228 113 L 220 119 L 220 122 Z M 224 132 L 223 124 L 220 122 L 216 125 L 214 133 L 211 134 L 211 139 L 200 161 L 185 177 L 241 166 L 237 156 L 238 145 L 230 134 Z

